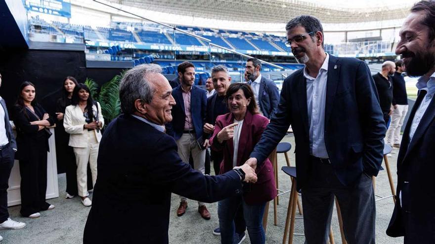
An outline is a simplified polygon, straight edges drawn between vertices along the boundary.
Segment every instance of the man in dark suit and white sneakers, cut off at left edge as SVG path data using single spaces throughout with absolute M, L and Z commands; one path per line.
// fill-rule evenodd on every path
M 0 74 L 1 86 L 1 74 Z M 7 211 L 7 188 L 9 187 L 9 175 L 14 163 L 14 155 L 17 151 L 17 143 L 12 134 L 7 114 L 6 103 L 0 97 L 0 230 L 1 229 L 21 229 L 25 223 L 17 222 L 9 218 Z M 3 238 L 0 236 L 0 241 Z

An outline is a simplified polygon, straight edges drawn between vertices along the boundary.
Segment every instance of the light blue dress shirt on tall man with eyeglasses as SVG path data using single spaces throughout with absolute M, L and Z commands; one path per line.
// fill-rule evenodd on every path
M 306 105 L 309 123 L 309 145 L 314 157 L 329 158 L 325 146 L 326 83 L 328 80 L 329 54 L 320 67 L 317 77 L 311 77 L 304 68 L 306 79 Z

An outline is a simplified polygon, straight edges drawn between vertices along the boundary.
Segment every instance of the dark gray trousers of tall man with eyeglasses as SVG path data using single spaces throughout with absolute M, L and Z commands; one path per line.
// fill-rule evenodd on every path
M 344 186 L 331 164 L 312 162 L 307 186 L 302 189 L 306 244 L 328 241 L 334 198 L 337 197 L 348 244 L 374 244 L 376 206 L 372 178 L 362 173 Z

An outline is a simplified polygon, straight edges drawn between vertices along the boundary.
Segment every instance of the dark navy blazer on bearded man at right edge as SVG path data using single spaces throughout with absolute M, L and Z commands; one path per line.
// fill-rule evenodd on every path
M 409 131 L 415 112 L 423 97 L 419 96 L 411 109 L 403 132 L 397 156 L 397 195 L 402 193 L 401 205 L 398 196 L 387 235 L 405 235 L 402 208 L 409 211 L 410 222 L 405 243 L 435 243 L 435 99 L 432 99 L 425 114 L 409 139 Z M 408 183 L 405 183 L 408 182 Z

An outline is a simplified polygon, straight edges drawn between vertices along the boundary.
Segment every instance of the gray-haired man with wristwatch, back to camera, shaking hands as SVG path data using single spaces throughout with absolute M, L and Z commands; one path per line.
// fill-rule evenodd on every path
M 244 165 L 218 176 L 193 170 L 165 133 L 175 105 L 172 88 L 155 64 L 127 71 L 120 85 L 123 114 L 100 142 L 98 179 L 87 217 L 84 243 L 168 243 L 171 193 L 216 202 L 256 182 Z

